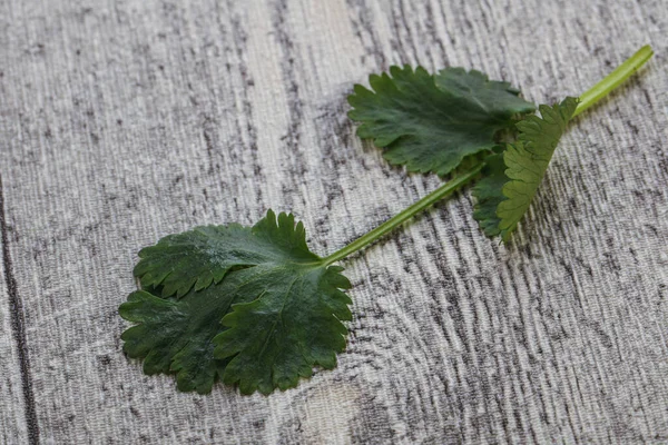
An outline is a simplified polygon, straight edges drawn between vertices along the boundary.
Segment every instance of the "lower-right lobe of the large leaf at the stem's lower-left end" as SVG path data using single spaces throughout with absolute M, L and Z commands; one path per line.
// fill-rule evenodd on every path
M 258 295 L 223 318 L 229 327 L 218 335 L 215 356 L 232 357 L 226 384 L 239 384 L 243 394 L 263 394 L 275 387 L 297 385 L 314 365 L 331 369 L 336 353 L 345 348 L 347 334 L 341 320 L 350 320 L 350 288 L 341 267 L 257 267 L 238 273 L 234 293 Z

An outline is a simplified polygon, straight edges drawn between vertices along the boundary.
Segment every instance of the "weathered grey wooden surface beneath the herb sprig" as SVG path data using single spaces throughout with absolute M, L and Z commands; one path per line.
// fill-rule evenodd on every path
M 666 443 L 667 36 L 664 0 L 0 0 L 0 442 Z M 336 369 L 199 396 L 124 356 L 140 247 L 271 207 L 326 254 L 439 185 L 354 136 L 371 72 L 553 102 L 645 43 L 513 243 L 464 191 L 345 261 Z

